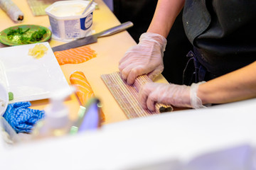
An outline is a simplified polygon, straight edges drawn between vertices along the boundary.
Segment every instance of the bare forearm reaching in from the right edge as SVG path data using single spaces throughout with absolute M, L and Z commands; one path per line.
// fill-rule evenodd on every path
M 207 81 L 198 87 L 203 104 L 229 103 L 256 97 L 256 62 Z

